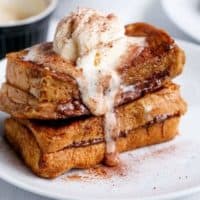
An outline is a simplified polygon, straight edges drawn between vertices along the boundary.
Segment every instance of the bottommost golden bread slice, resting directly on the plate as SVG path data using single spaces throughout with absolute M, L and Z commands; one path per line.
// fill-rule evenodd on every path
M 149 127 L 131 130 L 126 137 L 117 139 L 117 149 L 123 152 L 170 140 L 178 133 L 178 123 L 179 117 L 172 117 Z M 104 158 L 105 143 L 42 153 L 34 136 L 20 123 L 7 120 L 5 130 L 11 146 L 22 156 L 26 165 L 41 177 L 54 178 L 71 168 L 93 167 Z

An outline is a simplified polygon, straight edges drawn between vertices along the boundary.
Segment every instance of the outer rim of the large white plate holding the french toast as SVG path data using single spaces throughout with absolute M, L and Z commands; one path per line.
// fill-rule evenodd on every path
M 192 43 L 192 42 L 188 42 L 188 41 L 185 41 L 185 40 L 179 40 L 179 39 L 175 39 L 175 41 L 180 45 L 180 46 L 190 46 L 190 48 L 195 48 L 195 49 L 198 49 L 200 51 L 200 45 L 198 44 L 195 44 L 195 43 Z M 0 63 L 3 62 L 5 59 L 2 59 L 0 60 Z M 3 137 L 0 136 L 0 140 L 2 140 Z M 24 191 L 27 191 L 27 192 L 31 192 L 33 194 L 36 194 L 36 195 L 40 195 L 40 196 L 43 196 L 43 197 L 48 197 L 48 198 L 56 198 L 56 199 L 70 199 L 70 200 L 80 200 L 80 198 L 74 198 L 74 197 L 71 197 L 71 196 L 65 196 L 63 197 L 62 196 L 62 193 L 59 194 L 59 193 L 53 193 L 53 192 L 49 192 L 49 191 L 46 191 L 46 190 L 43 190 L 41 189 L 40 187 L 36 187 L 36 186 L 33 186 L 33 185 L 27 185 L 26 183 L 22 182 L 22 181 L 18 181 L 17 179 L 13 179 L 11 177 L 9 177 L 7 174 L 4 174 L 4 173 L 0 173 L 0 179 L 19 188 L 19 189 L 22 189 Z M 181 198 L 181 197 L 187 197 L 189 195 L 194 195 L 196 193 L 200 192 L 200 184 L 199 186 L 195 186 L 195 187 L 190 187 L 190 188 L 187 188 L 187 189 L 179 189 L 175 192 L 170 192 L 170 193 L 166 193 L 166 194 L 161 194 L 161 195 L 155 195 L 155 196 L 149 196 L 149 197 L 143 197 L 143 198 L 134 198 L 134 200 L 170 200 L 170 199 L 175 199 L 175 198 Z M 84 199 L 84 198 L 83 198 Z M 94 199 L 94 198 L 87 198 L 87 200 L 90 200 L 90 199 Z M 95 199 L 105 199 L 105 198 L 95 198 Z M 116 199 L 119 199 L 119 198 L 116 198 Z M 125 198 L 125 199 L 133 199 L 133 198 Z

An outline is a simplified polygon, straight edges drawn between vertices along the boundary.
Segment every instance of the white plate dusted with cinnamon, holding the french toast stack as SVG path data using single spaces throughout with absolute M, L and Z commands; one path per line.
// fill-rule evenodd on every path
M 177 79 L 189 104 L 183 117 L 180 135 L 173 141 L 146 147 L 121 155 L 126 164 L 125 176 L 94 177 L 83 171 L 70 174 L 89 176 L 72 181 L 65 174 L 55 180 L 45 180 L 32 174 L 0 139 L 0 178 L 24 190 L 58 199 L 173 199 L 200 191 L 200 47 L 179 42 L 185 49 L 187 63 Z M 5 61 L 0 63 L 0 81 L 5 73 Z M 0 113 L 1 135 L 5 114 Z

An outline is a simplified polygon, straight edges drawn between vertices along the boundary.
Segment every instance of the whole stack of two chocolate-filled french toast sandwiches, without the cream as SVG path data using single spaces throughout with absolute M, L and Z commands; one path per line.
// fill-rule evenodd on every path
M 148 24 L 130 24 L 126 34 L 145 37 L 148 45 L 118 69 L 126 86 L 115 102 L 119 152 L 174 138 L 186 112 L 179 86 L 171 82 L 182 72 L 184 52 L 166 32 Z M 99 164 L 106 151 L 103 116 L 93 116 L 83 104 L 71 76 L 73 64 L 51 47 L 43 45 L 42 63 L 25 60 L 29 50 L 8 54 L 0 91 L 0 109 L 11 114 L 5 121 L 7 141 L 45 178 Z

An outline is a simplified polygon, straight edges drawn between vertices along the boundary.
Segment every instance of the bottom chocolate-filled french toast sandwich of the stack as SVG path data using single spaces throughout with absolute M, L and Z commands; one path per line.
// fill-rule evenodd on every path
M 127 151 L 173 138 L 185 111 L 186 104 L 174 84 L 120 106 L 116 109 L 120 124 L 117 150 Z M 87 168 L 103 161 L 102 117 L 70 122 L 10 118 L 5 124 L 9 143 L 39 176 L 51 178 L 71 168 Z

